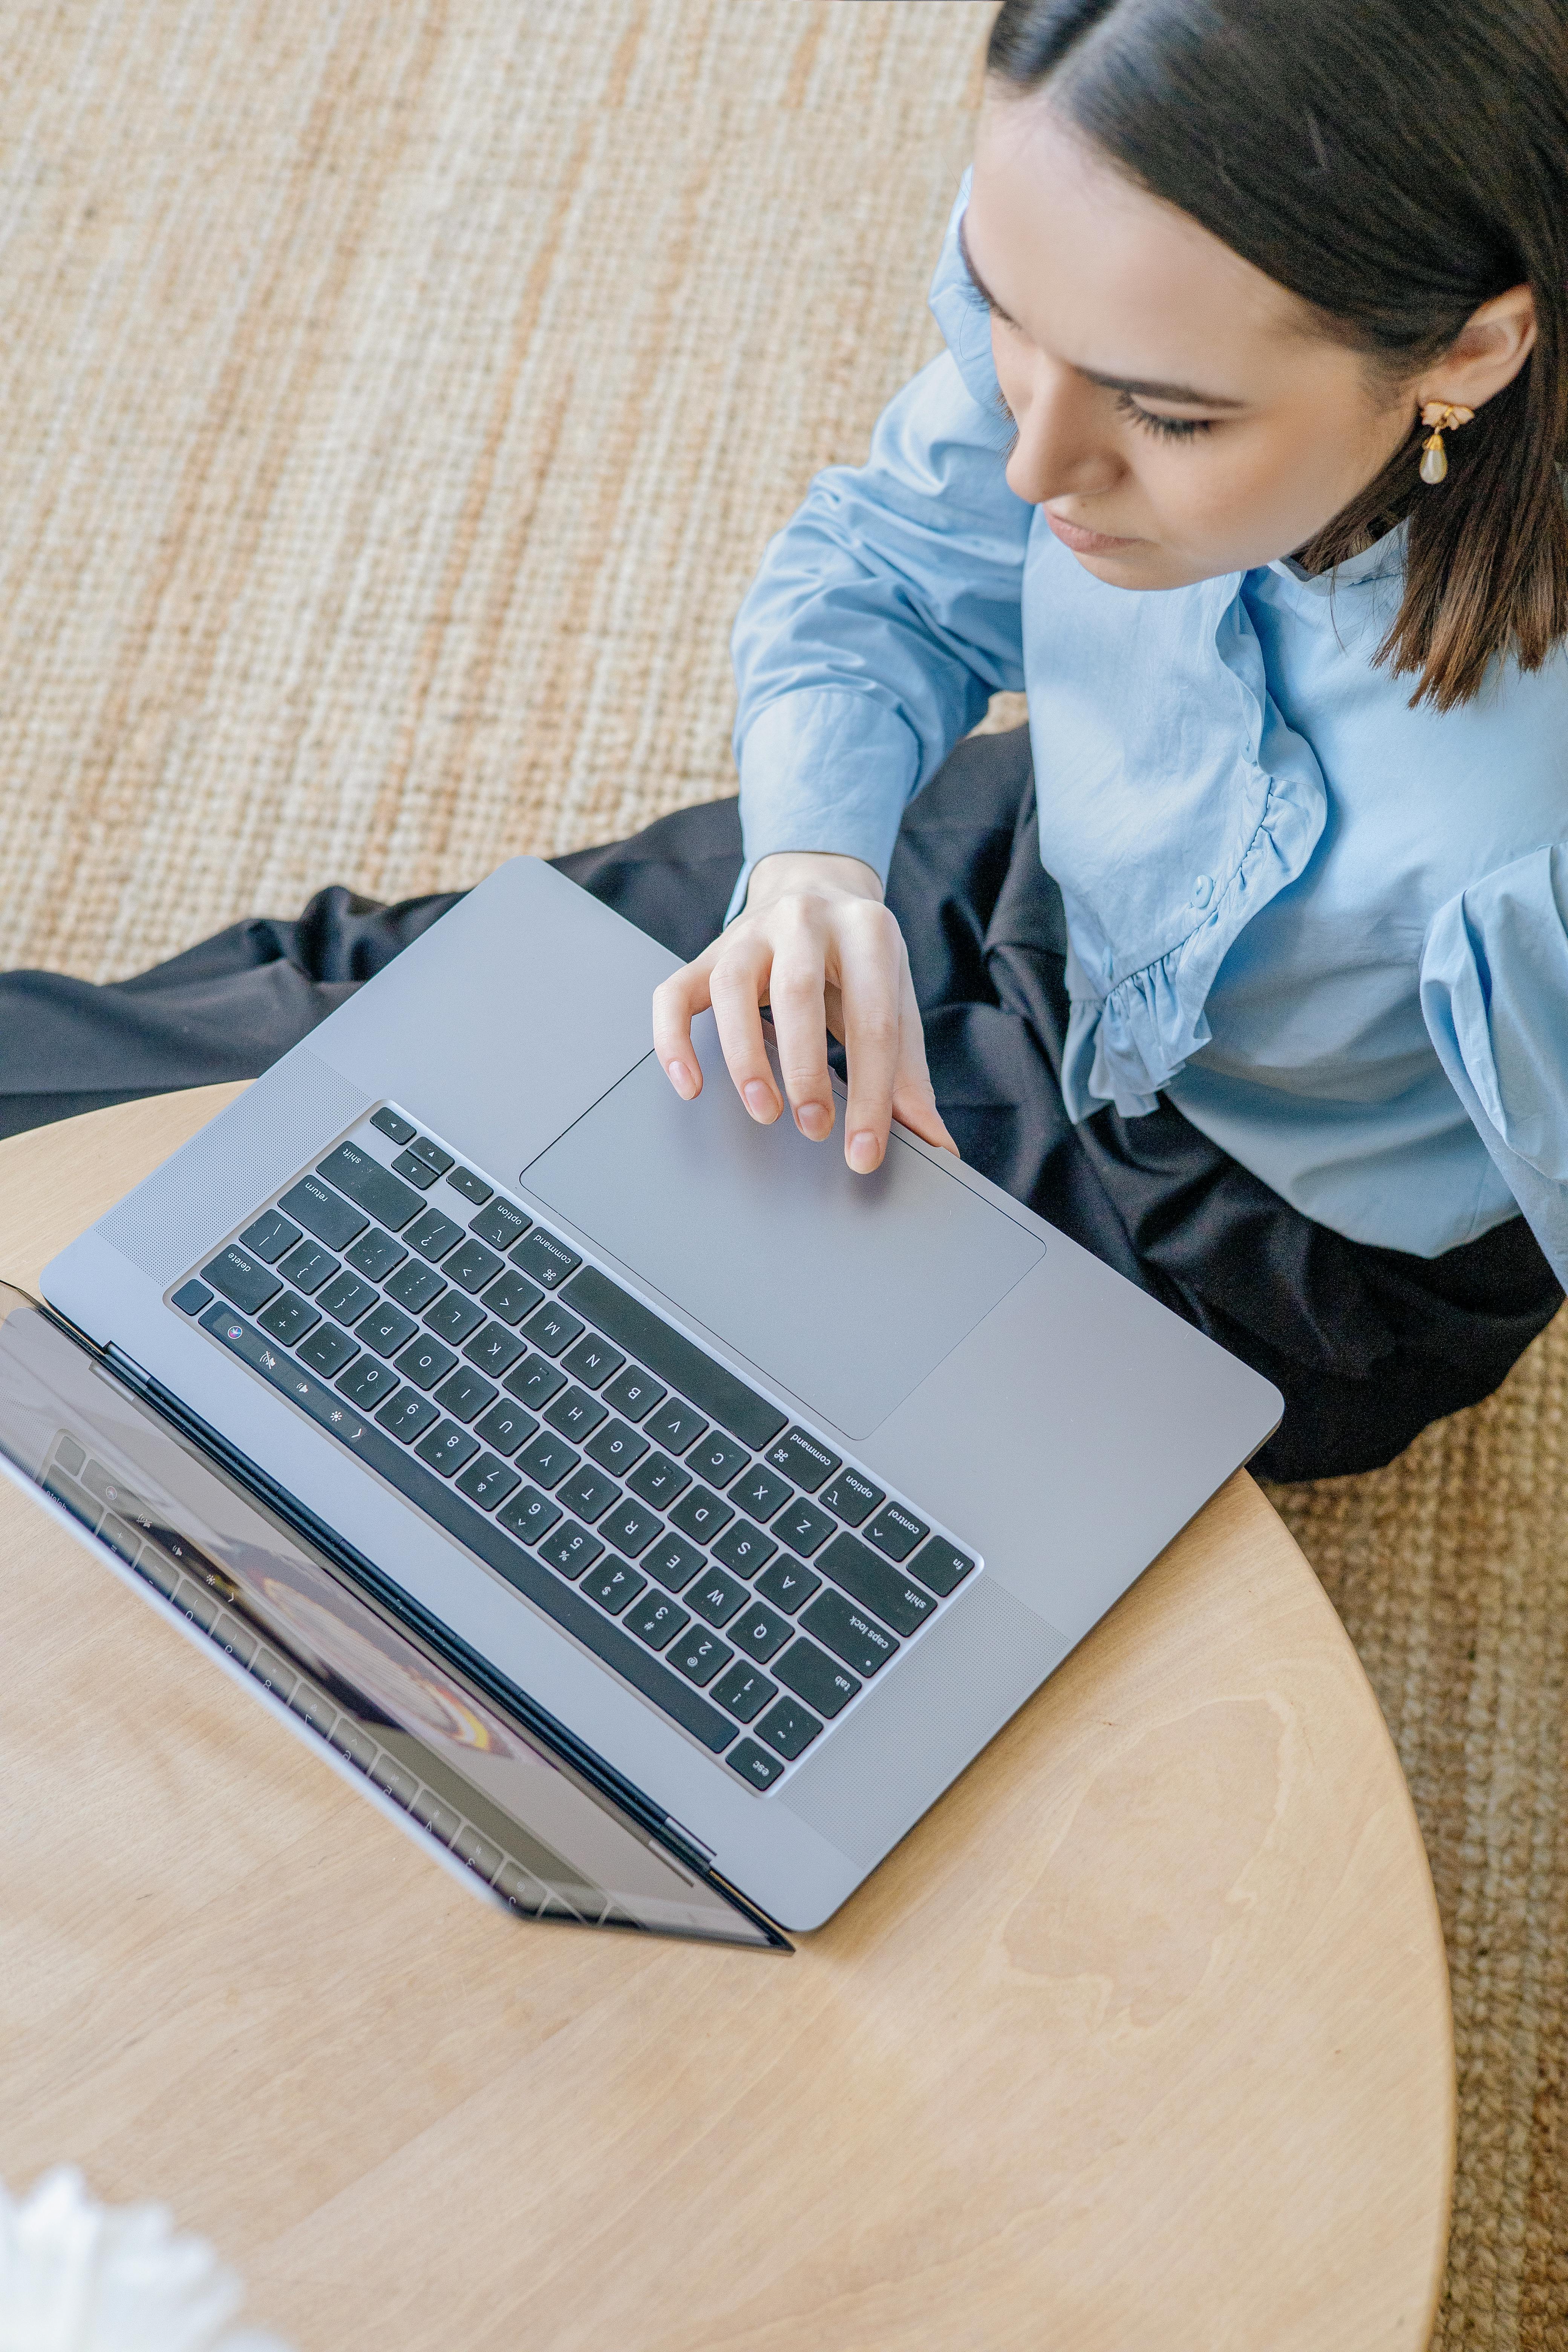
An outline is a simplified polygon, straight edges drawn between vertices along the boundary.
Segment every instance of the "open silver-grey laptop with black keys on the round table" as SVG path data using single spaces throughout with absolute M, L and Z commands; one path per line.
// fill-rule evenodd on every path
M 0 1446 L 498 1900 L 778 1945 L 1281 1399 L 712 1028 L 677 1101 L 672 969 L 503 866 L 12 1298 Z

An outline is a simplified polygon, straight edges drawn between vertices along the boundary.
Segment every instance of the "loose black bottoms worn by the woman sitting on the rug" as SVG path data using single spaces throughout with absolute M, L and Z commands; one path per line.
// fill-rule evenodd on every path
M 733 800 L 555 861 L 679 957 L 719 929 L 741 868 Z M 454 896 L 320 891 L 134 981 L 0 976 L 0 1134 L 141 1094 L 256 1077 L 418 938 Z M 1415 1258 L 1291 1209 L 1166 1101 L 1063 1108 L 1065 927 L 1041 870 L 1027 731 L 971 736 L 910 804 L 889 906 L 910 943 L 931 1082 L 964 1157 L 1281 1390 L 1255 1468 L 1373 1470 L 1476 1404 L 1561 1305 L 1523 1218 Z M 710 1073 L 715 1075 L 715 1073 Z M 1135 1430 L 1128 1430 L 1135 1449 Z

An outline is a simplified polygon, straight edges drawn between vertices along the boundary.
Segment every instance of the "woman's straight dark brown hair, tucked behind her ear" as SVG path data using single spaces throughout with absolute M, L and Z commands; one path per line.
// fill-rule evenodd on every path
M 1469 701 L 1568 633 L 1568 5 L 1563 0 L 1004 0 L 990 71 L 1051 82 L 1119 169 L 1180 207 L 1392 374 L 1479 303 L 1535 294 L 1519 376 L 1418 482 L 1420 430 L 1319 532 L 1340 562 L 1410 517 L 1378 659 L 1413 701 Z

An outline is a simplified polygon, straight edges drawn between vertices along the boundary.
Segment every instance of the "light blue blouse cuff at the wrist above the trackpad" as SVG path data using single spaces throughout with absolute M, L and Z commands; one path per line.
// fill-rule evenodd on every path
M 745 863 L 724 922 L 745 906 L 752 866 L 783 849 L 860 858 L 886 882 L 917 783 L 914 729 L 870 694 L 809 687 L 764 703 L 741 746 Z

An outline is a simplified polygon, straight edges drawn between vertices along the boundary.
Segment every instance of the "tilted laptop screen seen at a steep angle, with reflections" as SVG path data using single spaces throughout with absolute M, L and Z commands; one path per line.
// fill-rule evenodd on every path
M 393 1616 L 31 1298 L 0 1284 L 0 1470 L 475 1891 L 529 1919 L 788 1950 L 527 1703 L 508 1708 Z

